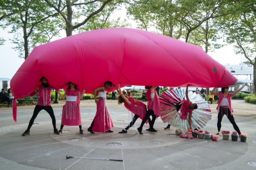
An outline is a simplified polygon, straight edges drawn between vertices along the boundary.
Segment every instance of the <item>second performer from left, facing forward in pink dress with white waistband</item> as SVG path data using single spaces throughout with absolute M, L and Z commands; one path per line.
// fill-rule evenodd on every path
M 80 90 L 77 88 L 77 85 L 69 82 L 68 88 L 65 91 L 64 95 L 57 91 L 59 96 L 62 99 L 66 98 L 66 103 L 63 105 L 62 109 L 62 118 L 61 118 L 61 129 L 57 134 L 62 133 L 64 125 L 67 126 L 79 126 L 79 133 L 84 134 L 81 123 L 81 113 L 80 113 L 80 99 L 83 98 L 85 89 L 83 93 L 80 93 Z

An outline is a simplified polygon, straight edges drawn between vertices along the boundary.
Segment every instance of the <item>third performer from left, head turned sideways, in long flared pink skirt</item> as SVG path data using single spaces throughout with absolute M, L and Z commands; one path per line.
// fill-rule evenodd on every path
M 108 89 L 112 86 L 111 81 L 106 81 L 104 86 L 94 89 L 94 100 L 97 104 L 97 111 L 91 126 L 87 129 L 88 132 L 113 132 L 110 129 L 113 127 L 112 119 L 109 114 L 109 109 L 107 108 L 106 103 L 106 93 L 105 89 Z M 99 100 L 97 100 L 97 93 L 99 95 Z

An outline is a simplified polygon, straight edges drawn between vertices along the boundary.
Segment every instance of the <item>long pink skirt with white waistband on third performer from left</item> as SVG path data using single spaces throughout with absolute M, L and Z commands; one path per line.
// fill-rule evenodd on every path
M 99 96 L 103 99 L 98 99 L 97 111 L 93 119 L 92 130 L 94 132 L 106 132 L 113 126 L 112 119 L 109 114 L 109 109 L 106 103 L 106 91 L 99 92 Z

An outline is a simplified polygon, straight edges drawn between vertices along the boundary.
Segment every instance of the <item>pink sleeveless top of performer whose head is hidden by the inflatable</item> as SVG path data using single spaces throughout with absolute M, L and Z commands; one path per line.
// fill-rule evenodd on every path
M 156 117 L 160 116 L 160 105 L 159 105 L 159 99 L 158 95 L 155 91 L 155 97 L 154 100 L 150 100 L 151 95 L 151 88 L 147 90 L 146 96 L 147 96 L 147 109 L 153 110 Z

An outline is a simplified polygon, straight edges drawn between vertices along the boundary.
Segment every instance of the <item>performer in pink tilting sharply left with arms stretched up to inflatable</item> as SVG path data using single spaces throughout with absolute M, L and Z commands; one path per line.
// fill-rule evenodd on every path
M 116 91 L 118 92 L 118 104 L 124 103 L 124 106 L 130 110 L 132 113 L 134 113 L 134 117 L 132 118 L 132 122 L 124 128 L 119 133 L 127 133 L 127 130 L 133 126 L 133 124 L 136 122 L 138 118 L 143 119 L 146 116 L 147 113 L 147 106 L 142 103 L 141 101 L 135 101 L 132 97 L 129 97 L 126 94 L 123 94 L 120 89 L 120 84 L 118 84 L 118 88 L 116 88 Z M 150 118 L 149 118 L 150 120 Z

